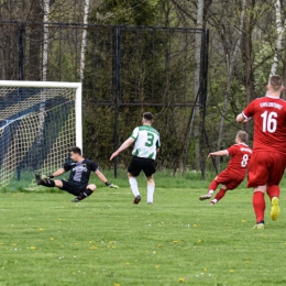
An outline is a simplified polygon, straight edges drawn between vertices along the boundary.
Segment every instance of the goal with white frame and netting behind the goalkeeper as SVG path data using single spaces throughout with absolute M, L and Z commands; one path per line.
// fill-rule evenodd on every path
M 21 189 L 82 148 L 81 84 L 0 80 L 0 188 Z

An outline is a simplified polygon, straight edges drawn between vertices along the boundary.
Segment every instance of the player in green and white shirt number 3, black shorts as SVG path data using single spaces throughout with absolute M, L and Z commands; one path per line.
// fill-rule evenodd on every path
M 141 200 L 136 177 L 144 172 L 147 178 L 147 204 L 153 204 L 155 190 L 155 182 L 153 174 L 156 172 L 155 158 L 160 151 L 161 142 L 158 132 L 152 128 L 153 114 L 145 112 L 142 118 L 141 127 L 133 130 L 131 136 L 116 151 L 110 161 L 116 157 L 121 151 L 128 148 L 135 142 L 132 151 L 133 158 L 128 167 L 128 177 L 131 190 L 134 195 L 133 204 L 139 204 Z

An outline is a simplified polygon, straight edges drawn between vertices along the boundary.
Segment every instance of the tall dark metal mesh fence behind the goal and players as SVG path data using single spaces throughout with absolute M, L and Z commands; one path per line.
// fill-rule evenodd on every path
M 206 30 L 0 22 L 0 79 L 84 77 L 84 152 L 105 167 L 111 167 L 110 154 L 142 113 L 151 111 L 162 138 L 158 167 L 196 168 L 199 161 L 204 174 L 207 70 Z M 129 161 L 125 152 L 114 169 Z

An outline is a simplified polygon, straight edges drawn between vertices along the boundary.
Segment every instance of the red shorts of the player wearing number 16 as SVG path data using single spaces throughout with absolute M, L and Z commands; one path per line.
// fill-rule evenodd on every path
M 286 166 L 286 156 L 273 152 L 253 152 L 249 165 L 248 188 L 279 185 Z

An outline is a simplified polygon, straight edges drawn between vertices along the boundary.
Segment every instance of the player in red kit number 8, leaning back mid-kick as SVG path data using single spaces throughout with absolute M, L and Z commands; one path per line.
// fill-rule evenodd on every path
M 235 143 L 231 147 L 222 151 L 210 153 L 212 156 L 231 156 L 228 167 L 222 170 L 209 185 L 209 193 L 199 197 L 200 200 L 210 199 L 219 184 L 222 184 L 217 196 L 210 201 L 210 205 L 217 204 L 223 198 L 227 190 L 235 189 L 244 179 L 246 168 L 252 155 L 252 150 L 245 144 L 248 133 L 239 131 L 235 138 Z

